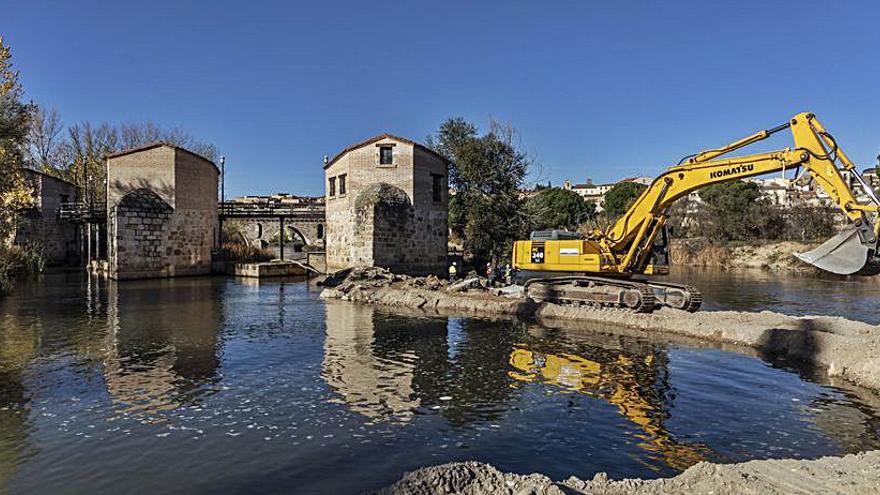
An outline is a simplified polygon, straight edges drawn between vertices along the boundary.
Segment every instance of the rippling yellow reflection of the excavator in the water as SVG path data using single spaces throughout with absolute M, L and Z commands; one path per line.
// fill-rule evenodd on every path
M 642 440 L 639 447 L 658 454 L 673 469 L 684 471 L 705 460 L 705 446 L 679 443 L 663 426 L 663 399 L 651 390 L 651 383 L 646 383 L 657 375 L 652 373 L 657 366 L 653 354 L 642 360 L 618 354 L 616 359 L 600 363 L 574 354 L 542 353 L 521 346 L 511 353 L 510 364 L 517 371 L 509 375 L 516 380 L 540 381 L 614 404 L 644 432 L 638 436 Z

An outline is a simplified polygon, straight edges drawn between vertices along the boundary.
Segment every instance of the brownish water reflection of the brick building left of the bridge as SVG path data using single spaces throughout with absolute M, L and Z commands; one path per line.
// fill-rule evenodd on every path
M 113 284 L 108 291 L 104 376 L 123 413 L 153 418 L 210 391 L 220 364 L 218 286 L 178 279 Z

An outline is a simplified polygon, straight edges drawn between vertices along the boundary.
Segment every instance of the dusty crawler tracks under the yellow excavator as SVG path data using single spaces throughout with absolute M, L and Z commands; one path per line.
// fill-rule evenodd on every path
M 554 277 L 529 280 L 526 297 L 537 302 L 591 305 L 650 313 L 657 304 L 655 290 L 644 282 L 604 277 Z

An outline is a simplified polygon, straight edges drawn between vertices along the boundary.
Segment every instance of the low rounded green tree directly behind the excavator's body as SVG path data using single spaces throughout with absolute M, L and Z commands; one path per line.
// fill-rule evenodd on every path
M 526 201 L 526 209 L 534 230 L 576 230 L 584 221 L 596 216 L 595 204 L 560 187 L 542 189 Z

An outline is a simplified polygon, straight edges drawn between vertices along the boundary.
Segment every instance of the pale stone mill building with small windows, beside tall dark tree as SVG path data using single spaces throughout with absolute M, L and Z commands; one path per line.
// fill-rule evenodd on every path
M 409 139 L 382 134 L 324 165 L 330 271 L 380 266 L 446 270 L 448 162 Z

